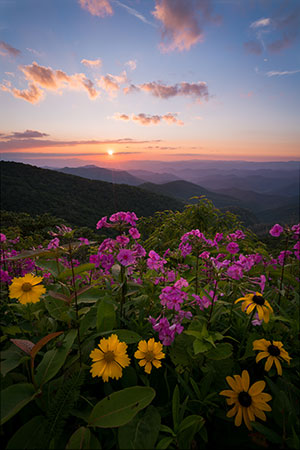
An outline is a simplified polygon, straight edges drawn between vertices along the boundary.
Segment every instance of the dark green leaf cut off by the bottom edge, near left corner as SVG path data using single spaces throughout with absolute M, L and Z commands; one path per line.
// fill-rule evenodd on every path
M 35 416 L 26 422 L 9 440 L 6 450 L 31 450 L 45 448 L 46 419 Z

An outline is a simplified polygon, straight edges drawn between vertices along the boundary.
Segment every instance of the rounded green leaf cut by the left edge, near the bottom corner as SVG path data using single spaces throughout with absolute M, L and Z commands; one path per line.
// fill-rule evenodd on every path
M 1 391 L 1 422 L 7 422 L 36 396 L 33 384 L 14 384 Z

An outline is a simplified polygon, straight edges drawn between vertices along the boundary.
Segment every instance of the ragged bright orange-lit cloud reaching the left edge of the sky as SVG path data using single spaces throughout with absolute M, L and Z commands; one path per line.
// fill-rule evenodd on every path
M 28 66 L 19 66 L 19 69 L 28 80 L 28 89 L 12 88 L 11 83 L 8 84 L 7 82 L 6 85 L 1 85 L 0 87 L 4 91 L 11 92 L 15 97 L 22 98 L 30 103 L 37 103 L 43 98 L 44 91 L 40 87 L 52 91 L 59 91 L 65 88 L 84 89 L 92 99 L 99 95 L 94 87 L 94 83 L 83 73 L 67 75 L 62 70 L 53 70 L 51 67 L 40 66 L 35 61 Z

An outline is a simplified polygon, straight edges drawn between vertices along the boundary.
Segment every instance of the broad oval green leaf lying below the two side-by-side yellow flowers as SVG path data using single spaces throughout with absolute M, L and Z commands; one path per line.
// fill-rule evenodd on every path
M 100 428 L 120 427 L 151 403 L 155 390 L 134 386 L 114 392 L 97 403 L 89 417 L 89 425 Z

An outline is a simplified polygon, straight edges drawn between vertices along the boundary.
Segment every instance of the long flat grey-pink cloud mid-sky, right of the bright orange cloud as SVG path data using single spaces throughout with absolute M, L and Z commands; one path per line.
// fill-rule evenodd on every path
M 136 88 L 136 86 L 134 88 Z M 132 86 L 130 87 L 130 89 L 132 90 Z M 197 83 L 187 83 L 183 81 L 181 83 L 169 86 L 163 83 L 152 81 L 150 83 L 138 85 L 138 89 L 144 92 L 149 92 L 154 97 L 164 99 L 182 95 L 187 97 L 194 97 L 200 101 L 200 99 L 202 98 L 208 100 L 209 97 L 207 83 L 205 81 L 198 81 Z

